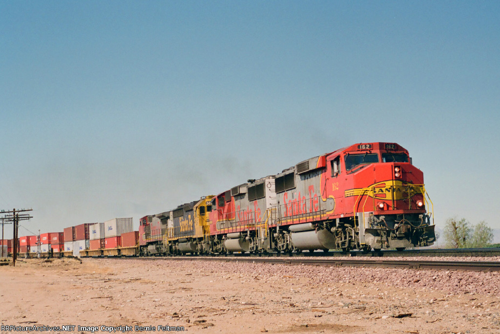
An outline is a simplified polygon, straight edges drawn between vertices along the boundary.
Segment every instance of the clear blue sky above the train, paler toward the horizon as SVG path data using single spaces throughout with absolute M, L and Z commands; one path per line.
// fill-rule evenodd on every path
M 371 141 L 408 149 L 438 226 L 500 228 L 500 2 L 3 1 L 0 31 L 0 208 L 32 231 Z

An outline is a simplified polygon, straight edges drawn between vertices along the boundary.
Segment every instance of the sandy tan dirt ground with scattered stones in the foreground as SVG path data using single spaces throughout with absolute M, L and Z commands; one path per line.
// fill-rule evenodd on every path
M 20 329 L 75 325 L 72 331 L 78 333 L 93 330 L 78 325 L 98 326 L 99 332 L 100 326 L 138 332 L 147 326 L 158 331 L 160 325 L 159 331 L 173 326 L 207 334 L 500 332 L 496 291 L 474 292 L 477 289 L 468 283 L 419 285 L 426 279 L 455 279 L 455 272 L 376 270 L 161 259 L 30 259 L 15 267 L 0 266 L 0 320 L 1 325 L 25 327 Z M 470 275 L 498 278 L 495 273 L 481 274 Z M 392 279 L 408 275 L 418 278 Z M 145 328 L 136 330 L 139 326 Z M 51 329 L 45 332 L 62 332 Z

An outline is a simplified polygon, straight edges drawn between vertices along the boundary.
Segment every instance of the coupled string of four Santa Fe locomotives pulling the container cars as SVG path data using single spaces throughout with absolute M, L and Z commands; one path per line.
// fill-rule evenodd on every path
M 139 250 L 402 250 L 433 244 L 432 212 L 423 173 L 407 150 L 396 143 L 359 143 L 145 216 Z

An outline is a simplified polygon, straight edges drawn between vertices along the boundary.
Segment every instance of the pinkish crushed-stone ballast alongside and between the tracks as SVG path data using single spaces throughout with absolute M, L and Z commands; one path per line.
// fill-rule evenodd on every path
M 314 259 L 317 257 L 303 257 Z M 330 257 L 321 257 L 327 259 Z M 331 257 L 340 259 L 342 257 Z M 349 259 L 352 259 L 349 257 Z M 356 257 L 356 260 L 374 258 Z M 376 258 L 375 258 L 376 259 Z M 477 257 L 425 257 L 426 261 L 480 261 Z M 295 259 L 292 259 L 295 260 Z M 296 258 L 300 260 L 300 258 Z M 422 260 L 422 257 L 391 257 L 390 260 Z M 498 261 L 500 258 L 487 258 L 488 261 Z M 194 261 L 193 261 L 194 262 Z M 196 261 L 198 262 L 198 261 Z M 194 263 L 193 263 L 194 264 Z M 452 293 L 484 293 L 500 297 L 500 272 L 455 271 L 455 270 L 417 270 L 398 268 L 370 268 L 370 267 L 324 267 L 312 265 L 266 264 L 247 262 L 218 262 L 209 261 L 196 263 L 204 270 L 233 271 L 237 273 L 256 274 L 264 279 L 277 278 L 282 275 L 305 277 L 312 283 L 342 282 L 383 283 L 386 286 L 405 288 L 425 287 L 428 289 Z

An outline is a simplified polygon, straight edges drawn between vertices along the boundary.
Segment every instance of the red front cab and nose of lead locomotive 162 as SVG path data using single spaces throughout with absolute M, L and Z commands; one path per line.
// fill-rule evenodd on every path
M 360 144 L 344 155 L 353 189 L 345 191 L 344 209 L 359 226 L 359 243 L 380 248 L 427 246 L 435 241 L 425 211 L 423 173 L 397 144 Z

